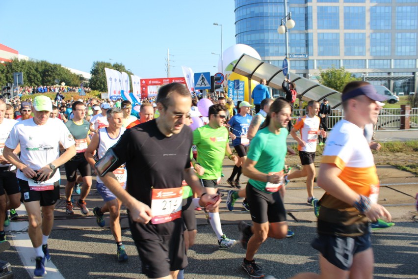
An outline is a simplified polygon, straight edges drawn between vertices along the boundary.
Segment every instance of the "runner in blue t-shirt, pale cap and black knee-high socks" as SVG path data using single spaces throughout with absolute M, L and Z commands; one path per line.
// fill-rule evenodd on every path
M 241 189 L 241 185 L 239 184 L 239 177 L 241 176 L 242 169 L 241 165 L 244 164 L 245 159 L 247 158 L 247 148 L 250 144 L 250 140 L 247 138 L 247 132 L 251 120 L 253 119 L 253 116 L 249 114 L 252 107 L 253 106 L 248 102 L 241 102 L 239 104 L 239 113 L 235 114 L 227 123 L 227 127 L 232 130 L 229 135 L 231 136 L 236 154 L 239 157 L 239 161 L 235 164 L 230 178 L 227 179 L 227 183 L 231 187 L 237 189 Z M 235 175 L 236 179 L 234 180 Z

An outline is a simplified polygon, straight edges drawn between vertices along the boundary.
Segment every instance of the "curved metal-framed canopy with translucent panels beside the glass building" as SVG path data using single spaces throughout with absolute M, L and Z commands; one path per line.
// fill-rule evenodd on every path
M 257 82 L 261 79 L 265 79 L 268 86 L 283 90 L 282 83 L 285 77 L 282 73 L 282 69 L 252 56 L 243 54 L 239 57 L 232 71 Z M 327 98 L 333 109 L 336 109 L 341 105 L 340 92 L 305 79 L 299 75 L 293 73 L 289 73 L 289 75 L 290 81 L 296 84 L 296 91 L 302 96 L 302 100 L 322 102 L 324 98 Z

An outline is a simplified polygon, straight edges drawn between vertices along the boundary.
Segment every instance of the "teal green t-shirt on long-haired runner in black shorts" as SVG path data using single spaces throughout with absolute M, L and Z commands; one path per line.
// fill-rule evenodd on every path
M 250 149 L 248 151 L 248 159 L 256 161 L 256 169 L 263 172 L 279 172 L 285 167 L 285 157 L 287 153 L 287 129 L 281 128 L 280 134 L 275 135 L 268 130 L 268 127 L 257 132 L 256 136 L 251 140 Z M 249 179 L 258 190 L 265 191 L 266 182 Z

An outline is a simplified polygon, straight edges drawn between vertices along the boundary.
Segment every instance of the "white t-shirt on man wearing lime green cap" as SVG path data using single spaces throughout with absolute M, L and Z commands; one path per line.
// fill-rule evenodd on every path
M 20 160 L 37 171 L 59 157 L 59 143 L 67 149 L 76 142 L 65 124 L 58 118 L 48 118 L 44 125 L 36 125 L 33 118 L 30 118 L 13 127 L 5 145 L 15 149 L 19 143 Z M 20 170 L 17 171 L 16 177 L 26 181 L 28 179 Z M 51 182 L 59 179 L 60 174 L 57 169 Z

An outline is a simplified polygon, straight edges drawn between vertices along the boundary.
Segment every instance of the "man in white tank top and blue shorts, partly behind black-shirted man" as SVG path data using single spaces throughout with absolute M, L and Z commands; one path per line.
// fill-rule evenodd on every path
M 97 150 L 97 156 L 101 159 L 104 156 L 104 153 L 112 147 L 125 132 L 125 128 L 122 128 L 123 124 L 123 111 L 119 108 L 111 108 L 107 112 L 107 122 L 109 126 L 106 128 L 99 129 L 99 132 L 94 134 L 91 139 L 91 143 L 87 147 L 84 156 L 87 162 L 94 167 L 96 161 L 94 160 L 94 155 Z M 113 171 L 115 173 L 119 184 L 119 187 L 126 188 L 126 169 L 125 167 L 119 167 Z M 106 185 L 103 183 L 102 179 L 98 175 L 96 177 L 97 184 L 96 189 L 102 196 L 105 205 L 102 207 L 96 206 L 93 209 L 93 213 L 96 216 L 96 222 L 99 226 L 104 226 L 103 215 L 106 212 L 110 213 L 110 231 L 113 234 L 113 237 L 117 246 L 117 258 L 118 261 L 128 260 L 128 255 L 125 251 L 125 246 L 122 243 L 122 232 L 121 225 L 119 223 L 120 209 L 122 202 L 115 196 Z

